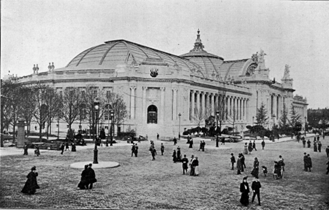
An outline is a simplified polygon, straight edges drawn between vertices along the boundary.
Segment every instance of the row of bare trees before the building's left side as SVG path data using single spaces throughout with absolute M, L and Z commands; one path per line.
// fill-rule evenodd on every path
M 126 105 L 122 96 L 113 92 L 105 92 L 94 86 L 83 89 L 68 87 L 55 89 L 45 83 L 19 84 L 6 80 L 1 83 L 1 131 L 13 128 L 13 143 L 15 143 L 15 131 L 18 118 L 24 118 L 27 125 L 27 134 L 30 134 L 32 122 L 39 125 L 41 140 L 42 128 L 47 125 L 47 136 L 51 123 L 64 122 L 71 130 L 72 124 L 80 120 L 89 122 L 89 128 L 93 117 L 93 102 L 100 102 L 98 119 L 104 121 L 110 117 L 109 110 L 114 111 L 112 122 L 119 126 L 127 117 Z M 59 127 L 59 126 L 58 126 Z M 59 135 L 59 129 L 58 129 Z M 1 145 L 3 141 L 1 139 Z

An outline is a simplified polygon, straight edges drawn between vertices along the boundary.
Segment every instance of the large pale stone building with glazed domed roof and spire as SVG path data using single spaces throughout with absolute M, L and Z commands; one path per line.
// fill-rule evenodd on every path
M 198 121 L 204 125 L 204 118 L 215 116 L 219 109 L 225 113 L 222 128 L 234 125 L 240 131 L 254 123 L 262 103 L 268 110 L 269 128 L 280 119 L 283 104 L 288 109 L 294 105 L 302 120 L 307 120 L 306 99 L 293 97 L 289 66 L 283 70 L 281 83 L 272 81 L 264 55 L 261 50 L 251 58 L 224 60 L 204 50 L 198 31 L 194 48 L 181 56 L 113 40 L 83 51 L 63 68 L 50 66 L 42 73 L 35 69 L 18 81 L 46 82 L 59 91 L 93 85 L 120 94 L 129 115 L 121 130 L 135 129 L 138 135 L 178 136 Z M 83 129 L 87 125 L 83 123 Z M 58 125 L 53 126 L 57 130 Z

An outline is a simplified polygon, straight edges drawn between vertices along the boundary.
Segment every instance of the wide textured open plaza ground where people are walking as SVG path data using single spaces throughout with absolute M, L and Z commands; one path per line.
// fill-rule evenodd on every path
M 322 139 L 322 138 L 321 138 Z M 41 150 L 35 157 L 16 150 L 16 154 L 4 154 L 1 150 L 1 208 L 24 209 L 328 209 L 328 175 L 326 172 L 325 148 L 329 137 L 322 140 L 322 152 L 313 152 L 313 147 L 303 148 L 301 142 L 282 141 L 268 143 L 262 150 L 257 143 L 257 151 L 245 155 L 246 169 L 242 175 L 230 168 L 230 153 L 237 158 L 243 151 L 243 143 L 219 144 L 206 141 L 205 152 L 198 151 L 199 138 L 194 138 L 192 149 L 186 139 L 172 142 L 155 141 L 157 155 L 152 161 L 148 151 L 150 142 L 138 143 L 138 157 L 131 157 L 131 144 L 121 142 L 112 147 L 98 147 L 98 161 L 114 161 L 115 168 L 94 167 L 97 182 L 92 190 L 79 190 L 77 184 L 82 169 L 70 167 L 72 163 L 93 160 L 93 144 L 77 147 L 77 152 Z M 313 138 L 310 137 L 313 142 Z M 160 144 L 164 143 L 161 156 Z M 172 152 L 180 146 L 182 155 L 197 155 L 199 176 L 183 175 L 182 164 L 173 163 Z M 20 153 L 17 153 L 17 150 Z M 312 172 L 304 172 L 303 153 L 311 155 Z M 282 155 L 285 161 L 283 179 L 273 179 L 274 160 Z M 268 168 L 264 177 L 260 170 L 261 203 L 251 203 L 249 207 L 240 204 L 239 186 L 244 176 L 248 176 L 249 187 L 253 181 L 250 172 L 257 157 L 260 166 Z M 37 167 L 40 189 L 35 195 L 24 195 L 20 191 L 26 175 L 32 166 Z

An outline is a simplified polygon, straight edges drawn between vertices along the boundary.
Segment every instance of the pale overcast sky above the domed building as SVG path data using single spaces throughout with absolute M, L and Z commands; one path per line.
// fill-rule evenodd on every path
M 278 82 L 289 64 L 294 94 L 329 107 L 328 11 L 327 1 L 1 0 L 1 78 L 64 67 L 114 39 L 181 55 L 200 29 L 205 50 L 225 60 L 262 48 Z

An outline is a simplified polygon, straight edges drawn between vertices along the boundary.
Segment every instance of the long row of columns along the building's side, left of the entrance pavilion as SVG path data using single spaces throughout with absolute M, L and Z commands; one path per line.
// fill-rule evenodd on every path
M 190 120 L 198 115 L 215 116 L 215 111 L 219 109 L 225 112 L 224 120 L 244 121 L 247 119 L 247 98 L 195 90 L 190 90 L 190 96 Z M 221 108 L 222 106 L 224 107 Z

